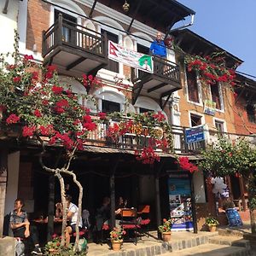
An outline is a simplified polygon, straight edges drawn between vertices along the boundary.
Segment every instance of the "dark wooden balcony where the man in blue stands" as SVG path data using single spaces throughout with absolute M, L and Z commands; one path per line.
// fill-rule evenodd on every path
M 154 73 L 146 73 L 131 68 L 131 81 L 133 86 L 133 104 L 140 95 L 151 96 L 160 99 L 161 108 L 165 108 L 166 102 L 172 92 L 182 88 L 179 68 L 176 63 L 160 57 L 153 57 Z M 163 101 L 167 97 L 167 100 Z

